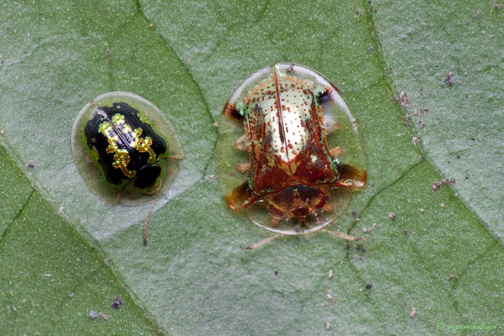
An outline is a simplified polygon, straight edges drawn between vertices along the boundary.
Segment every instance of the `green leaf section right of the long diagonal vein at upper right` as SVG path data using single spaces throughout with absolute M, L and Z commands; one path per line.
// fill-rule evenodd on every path
M 502 243 L 504 11 L 487 1 L 377 3 L 374 34 L 389 80 L 409 94 L 424 157 Z

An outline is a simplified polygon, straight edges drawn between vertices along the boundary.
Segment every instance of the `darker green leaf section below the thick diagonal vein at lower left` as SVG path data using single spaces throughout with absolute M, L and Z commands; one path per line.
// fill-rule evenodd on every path
M 154 335 L 99 253 L 31 190 L 1 147 L 0 159 L 2 333 Z M 116 297 L 119 308 L 111 306 Z

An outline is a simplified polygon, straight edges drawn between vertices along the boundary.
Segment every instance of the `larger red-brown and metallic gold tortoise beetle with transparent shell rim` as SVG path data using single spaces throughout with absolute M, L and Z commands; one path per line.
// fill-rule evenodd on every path
M 340 90 L 292 63 L 263 68 L 235 90 L 215 153 L 231 209 L 282 235 L 331 224 L 367 179 L 357 122 Z

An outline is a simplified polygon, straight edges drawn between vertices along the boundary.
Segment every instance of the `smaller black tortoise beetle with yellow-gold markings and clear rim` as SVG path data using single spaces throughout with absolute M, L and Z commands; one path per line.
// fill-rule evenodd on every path
M 108 204 L 135 206 L 161 197 L 173 182 L 182 147 L 152 103 L 109 92 L 81 110 L 72 153 L 82 179 Z

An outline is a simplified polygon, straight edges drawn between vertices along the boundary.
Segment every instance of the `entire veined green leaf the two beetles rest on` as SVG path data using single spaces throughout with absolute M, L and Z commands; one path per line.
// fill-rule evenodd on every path
M 492 4 L 2 3 L 5 333 L 502 333 L 503 10 Z M 227 208 L 213 123 L 233 88 L 277 62 L 332 79 L 359 121 L 368 184 L 329 227 L 358 243 L 314 233 L 243 249 L 271 234 Z M 184 148 L 146 247 L 149 205 L 104 204 L 72 161 L 77 113 L 115 90 L 153 102 Z

